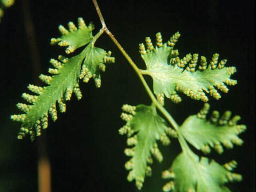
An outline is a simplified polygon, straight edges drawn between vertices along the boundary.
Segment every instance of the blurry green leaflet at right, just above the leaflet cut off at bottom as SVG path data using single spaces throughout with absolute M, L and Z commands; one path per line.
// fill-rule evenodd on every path
M 237 125 L 240 116 L 231 117 L 231 112 L 226 111 L 219 118 L 217 111 L 212 112 L 210 120 L 206 120 L 206 114 L 210 105 L 206 103 L 197 114 L 189 116 L 180 127 L 181 134 L 196 149 L 205 154 L 210 153 L 210 147 L 218 153 L 223 152 L 221 144 L 226 148 L 233 148 L 233 144 L 242 145 L 243 140 L 238 134 L 246 130 L 245 125 Z M 210 146 L 210 147 L 209 147 Z

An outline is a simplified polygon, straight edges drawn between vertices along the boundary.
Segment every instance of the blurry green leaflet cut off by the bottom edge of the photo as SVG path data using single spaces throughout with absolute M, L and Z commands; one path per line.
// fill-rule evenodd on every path
M 236 161 L 221 166 L 214 160 L 182 152 L 174 160 L 172 167 L 162 173 L 164 179 L 174 179 L 166 183 L 164 192 L 230 192 L 224 186 L 228 182 L 241 181 L 242 176 L 231 172 Z M 184 166 L 186 165 L 186 166 Z

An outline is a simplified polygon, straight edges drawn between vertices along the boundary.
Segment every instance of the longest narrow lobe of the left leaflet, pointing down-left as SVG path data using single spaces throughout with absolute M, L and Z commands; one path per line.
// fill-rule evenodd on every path
M 52 120 L 57 120 L 56 101 L 58 101 L 60 111 L 65 112 L 65 102 L 70 100 L 72 92 L 75 92 L 78 99 L 82 97 L 78 79 L 85 53 L 83 51 L 81 54 L 68 59 L 65 64 L 52 59 L 52 64 L 58 68 L 56 68 L 58 74 L 54 76 L 40 75 L 41 80 L 48 82 L 50 86 L 43 88 L 33 85 L 28 86 L 32 92 L 39 95 L 22 94 L 22 98 L 33 105 L 17 104 L 18 108 L 26 114 L 11 116 L 12 120 L 22 122 L 18 134 L 19 139 L 22 139 L 28 133 L 31 140 L 34 140 L 35 136 L 40 136 L 41 128 L 45 129 L 48 126 L 48 111 Z M 67 59 L 65 58 L 65 60 Z M 20 118 L 21 116 L 23 117 Z

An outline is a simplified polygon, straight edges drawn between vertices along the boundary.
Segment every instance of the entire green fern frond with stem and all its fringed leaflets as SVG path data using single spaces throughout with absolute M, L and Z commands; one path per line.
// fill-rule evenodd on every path
M 95 2 L 94 0 L 97 8 Z M 99 8 L 97 11 L 99 14 Z M 48 86 L 29 85 L 28 89 L 34 95 L 22 94 L 22 98 L 32 105 L 18 103 L 17 107 L 24 114 L 11 116 L 12 120 L 22 123 L 18 139 L 24 138 L 26 134 L 30 134 L 31 140 L 34 140 L 35 136 L 40 136 L 41 128 L 45 129 L 48 126 L 48 114 L 53 121 L 57 120 L 56 102 L 60 112 L 65 112 L 65 103 L 70 100 L 73 92 L 80 100 L 82 93 L 79 80 L 88 82 L 93 78 L 96 87 L 101 86 L 101 72 L 105 71 L 106 63 L 114 62 L 114 58 L 111 57 L 110 51 L 96 48 L 94 43 L 101 34 L 106 32 L 138 73 L 152 100 L 150 106 L 126 104 L 122 107 L 122 110 L 127 113 L 123 112 L 121 118 L 127 123 L 119 129 L 119 133 L 127 134 L 127 144 L 132 146 L 124 150 L 127 156 L 131 156 L 125 164 L 125 168 L 129 170 L 128 181 L 135 180 L 136 187 L 142 188 L 145 177 L 152 174 L 152 168 L 149 166 L 153 162 L 151 155 L 159 162 L 163 160 L 156 141 L 160 140 L 163 145 L 168 145 L 170 144 L 168 136 L 172 136 L 178 138 L 182 152 L 175 158 L 171 168 L 162 174 L 164 179 L 173 179 L 164 185 L 164 192 L 171 190 L 174 192 L 229 192 L 230 190 L 224 186 L 227 182 L 242 180 L 241 175 L 231 172 L 237 163 L 234 160 L 224 166 L 214 160 L 209 163 L 208 158 L 199 158 L 194 154 L 186 141 L 204 153 L 210 153 L 210 146 L 222 153 L 221 144 L 227 148 L 232 148 L 233 144 L 242 145 L 243 141 L 238 134 L 243 132 L 246 126 L 237 125 L 240 116 L 234 116 L 230 120 L 231 112 L 227 111 L 219 118 L 219 113 L 214 111 L 210 120 L 206 120 L 210 108 L 206 103 L 197 115 L 189 116 L 179 126 L 163 106 L 164 95 L 175 103 L 181 102 L 177 92 L 183 92 L 192 99 L 203 102 L 208 101 L 205 92 L 210 93 L 217 100 L 220 99 L 221 96 L 216 88 L 227 93 L 228 88 L 225 84 L 236 84 L 236 80 L 230 79 L 230 76 L 236 72 L 236 68 L 225 67 L 227 60 L 218 62 L 219 55 L 214 54 L 208 66 L 206 58 L 201 56 L 200 65 L 196 69 L 198 54 L 187 54 L 181 59 L 178 57 L 178 50 L 174 50 L 180 37 L 180 33 L 176 32 L 164 44 L 161 34 L 157 33 L 156 47 L 153 47 L 149 37 L 146 38 L 146 48 L 144 44 L 140 44 L 140 54 L 146 64 L 146 70 L 140 70 L 108 30 L 101 14 L 99 16 L 102 29 L 95 36 L 92 35 L 93 24 L 86 26 L 82 18 L 78 18 L 78 28 L 73 22 L 68 23 L 69 30 L 62 25 L 59 26 L 62 36 L 52 38 L 51 44 L 67 46 L 66 54 L 82 46 L 86 47 L 71 58 L 59 56 L 58 60 L 51 59 L 50 63 L 54 68 L 49 68 L 48 72 L 52 76 L 43 74 L 39 76 Z M 152 77 L 156 98 L 142 74 Z

